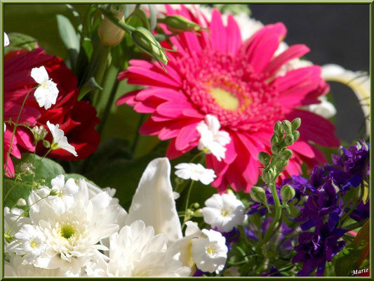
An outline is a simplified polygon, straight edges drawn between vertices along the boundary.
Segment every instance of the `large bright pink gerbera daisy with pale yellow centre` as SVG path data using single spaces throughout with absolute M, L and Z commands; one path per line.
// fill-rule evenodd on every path
M 182 15 L 208 30 L 200 32 L 201 36 L 185 32 L 171 37 L 178 52 L 167 52 L 167 72 L 157 63 L 131 60 L 119 79 L 148 88 L 126 94 L 117 105 L 126 103 L 137 112 L 152 114 L 140 133 L 171 139 L 166 152 L 169 158 L 198 145 L 196 126 L 208 114 L 218 118 L 221 130 L 231 138 L 223 161 L 206 155 L 206 165 L 217 175 L 212 185 L 219 192 L 225 192 L 228 185 L 249 192 L 255 185 L 261 166 L 258 153 L 270 150 L 276 120 L 302 119 L 300 139 L 290 147 L 294 153 L 286 168 L 288 175 L 300 174 L 302 162 L 312 166 L 325 161 L 315 144 L 339 145 L 333 124 L 300 109 L 319 103 L 317 98 L 328 92 L 328 85 L 321 79 L 321 67 L 312 65 L 282 76 L 277 74 L 289 60 L 309 51 L 307 46 L 298 44 L 274 55 L 286 36 L 281 22 L 266 25 L 242 41 L 231 15 L 225 26 L 217 10 L 213 10 L 211 22 L 198 9 L 193 13 L 185 6 L 180 10 L 166 6 L 166 13 Z M 172 48 L 167 42 L 163 46 Z

